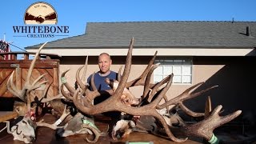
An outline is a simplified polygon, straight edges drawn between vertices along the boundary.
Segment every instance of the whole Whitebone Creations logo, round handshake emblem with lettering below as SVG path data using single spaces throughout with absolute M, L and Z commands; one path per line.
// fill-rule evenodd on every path
M 13 26 L 14 37 L 54 38 L 69 36 L 69 26 L 58 26 L 54 7 L 46 2 L 35 2 L 25 11 L 26 26 Z

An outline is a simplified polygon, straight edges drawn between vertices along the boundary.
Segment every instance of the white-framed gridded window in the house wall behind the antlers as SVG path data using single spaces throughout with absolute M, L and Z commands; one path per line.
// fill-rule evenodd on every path
M 154 83 L 174 74 L 173 83 L 192 83 L 192 59 L 191 58 L 162 58 L 155 60 L 160 63 L 154 70 Z

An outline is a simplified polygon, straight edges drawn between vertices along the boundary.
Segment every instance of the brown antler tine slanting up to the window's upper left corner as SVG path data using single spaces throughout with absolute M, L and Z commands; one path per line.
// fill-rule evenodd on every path
M 156 58 L 157 54 L 158 54 L 158 51 L 156 51 L 154 53 L 154 57 L 151 58 L 149 64 L 146 66 L 146 69 L 143 71 L 141 76 L 134 79 L 133 81 L 130 81 L 130 82 L 126 83 L 126 88 L 131 87 L 131 86 L 138 86 L 138 85 L 143 85 L 144 84 L 144 80 L 146 78 L 146 75 L 149 73 L 151 66 L 154 64 L 154 59 Z

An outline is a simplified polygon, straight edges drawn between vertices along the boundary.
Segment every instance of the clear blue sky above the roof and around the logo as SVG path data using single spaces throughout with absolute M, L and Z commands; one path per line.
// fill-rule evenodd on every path
M 17 37 L 13 26 L 24 23 L 26 9 L 46 2 L 58 14 L 57 26 L 69 26 L 68 36 Z M 2 0 L 0 39 L 12 51 L 26 46 L 85 34 L 87 22 L 245 21 L 256 22 L 256 0 Z

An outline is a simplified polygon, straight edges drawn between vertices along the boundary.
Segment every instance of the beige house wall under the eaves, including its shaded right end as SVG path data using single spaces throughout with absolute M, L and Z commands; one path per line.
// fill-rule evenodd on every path
M 142 74 L 150 58 L 147 56 L 133 57 L 128 81 L 138 78 Z M 70 68 L 70 72 L 66 74 L 68 82 L 75 82 L 76 70 L 84 64 L 85 59 L 86 57 L 62 57 L 60 72 Z M 112 59 L 111 70 L 118 72 L 120 66 L 125 65 L 126 57 L 115 56 Z M 98 71 L 97 60 L 97 57 L 89 58 L 86 78 L 94 71 Z M 194 91 L 210 86 L 218 87 L 184 102 L 191 110 L 203 112 L 207 96 L 211 97 L 213 108 L 218 105 L 223 106 L 222 109 L 225 110 L 223 114 L 230 114 L 234 110 L 243 110 L 244 112 L 254 110 L 256 71 L 252 69 L 252 66 L 255 66 L 255 62 L 254 57 L 194 57 L 192 85 L 173 84 L 166 95 L 168 98 L 174 98 L 190 86 L 198 82 L 205 82 Z M 143 89 L 142 86 L 137 86 L 130 90 L 140 97 Z

